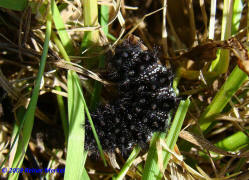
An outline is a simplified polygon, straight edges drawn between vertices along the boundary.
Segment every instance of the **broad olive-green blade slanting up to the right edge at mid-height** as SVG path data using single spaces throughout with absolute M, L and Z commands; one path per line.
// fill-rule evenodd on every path
M 237 66 L 229 75 L 211 104 L 202 113 L 199 120 L 201 130 L 205 131 L 213 122 L 213 116 L 222 112 L 232 96 L 237 92 L 241 85 L 247 80 L 247 75 Z

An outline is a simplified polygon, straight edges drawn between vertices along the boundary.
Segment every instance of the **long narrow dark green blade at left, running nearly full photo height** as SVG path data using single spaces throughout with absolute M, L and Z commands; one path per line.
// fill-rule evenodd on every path
M 51 3 L 51 6 L 53 5 L 54 4 Z M 35 109 L 36 109 L 37 100 L 39 96 L 41 79 L 42 79 L 42 75 L 43 75 L 45 64 L 46 64 L 49 40 L 50 40 L 51 29 L 52 29 L 53 11 L 50 9 L 50 6 L 48 6 L 48 8 L 49 8 L 49 13 L 47 16 L 46 35 L 45 35 L 45 41 L 43 45 L 43 52 L 41 56 L 40 67 L 39 67 L 39 71 L 37 74 L 36 83 L 35 83 L 35 87 L 32 93 L 32 97 L 28 105 L 28 109 L 23 117 L 24 124 L 23 124 L 23 127 L 20 127 L 22 128 L 21 130 L 22 137 L 20 137 L 18 141 L 17 150 L 16 150 L 16 154 L 14 157 L 12 168 L 21 167 L 26 149 L 28 147 L 33 124 L 34 124 Z M 13 173 L 9 175 L 9 179 L 18 179 L 18 176 L 19 176 L 18 173 Z

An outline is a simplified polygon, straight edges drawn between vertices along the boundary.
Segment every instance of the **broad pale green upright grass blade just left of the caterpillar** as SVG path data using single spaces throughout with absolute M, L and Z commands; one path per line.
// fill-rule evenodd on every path
M 65 179 L 82 179 L 84 167 L 85 108 L 78 76 L 68 71 L 68 119 L 69 135 Z

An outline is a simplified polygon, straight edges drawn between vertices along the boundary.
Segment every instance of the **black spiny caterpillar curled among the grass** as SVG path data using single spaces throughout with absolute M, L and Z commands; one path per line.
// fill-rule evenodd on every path
M 125 153 L 135 144 L 146 148 L 153 132 L 168 128 L 169 112 L 179 102 L 172 88 L 173 73 L 131 36 L 116 47 L 105 78 L 117 84 L 118 98 L 91 114 L 103 150 L 119 148 Z M 96 152 L 88 121 L 85 129 L 85 148 Z

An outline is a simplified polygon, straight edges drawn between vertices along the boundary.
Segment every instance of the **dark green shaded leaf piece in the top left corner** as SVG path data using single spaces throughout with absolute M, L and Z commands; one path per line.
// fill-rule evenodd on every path
M 0 7 L 16 10 L 16 11 L 23 11 L 28 4 L 28 0 L 1 0 Z

